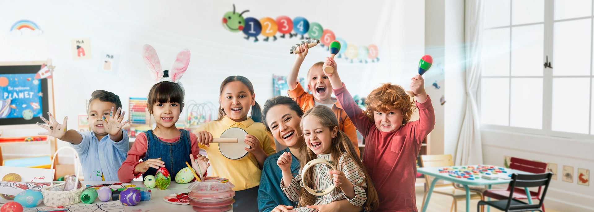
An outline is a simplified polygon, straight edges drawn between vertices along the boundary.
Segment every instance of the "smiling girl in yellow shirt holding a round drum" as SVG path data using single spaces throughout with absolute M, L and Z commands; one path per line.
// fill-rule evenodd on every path
M 243 211 L 258 211 L 258 185 L 264 160 L 276 153 L 272 135 L 262 124 L 260 105 L 255 101 L 254 86 L 248 78 L 230 76 L 220 86 L 219 119 L 207 122 L 194 134 L 198 137 L 200 148 L 204 148 L 213 167 L 214 176 L 227 178 L 235 185 L 233 208 Z M 249 109 L 251 117 L 248 117 Z M 250 148 L 248 156 L 242 160 L 230 160 L 223 156 L 219 144 L 211 143 L 214 138 L 229 128 L 241 128 L 248 132 L 244 142 Z

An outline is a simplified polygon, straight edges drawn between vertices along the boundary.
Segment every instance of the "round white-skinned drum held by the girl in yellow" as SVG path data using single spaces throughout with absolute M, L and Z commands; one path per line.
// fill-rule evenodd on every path
M 245 156 L 248 156 L 248 151 L 245 151 L 245 148 L 251 148 L 248 144 L 243 142 L 245 140 L 246 132 L 242 128 L 229 128 L 223 134 L 221 134 L 220 138 L 234 138 L 235 143 L 219 143 L 219 151 L 223 156 L 230 160 L 241 160 L 244 159 Z M 213 141 L 216 139 L 213 139 Z M 238 142 L 240 141 L 240 142 Z

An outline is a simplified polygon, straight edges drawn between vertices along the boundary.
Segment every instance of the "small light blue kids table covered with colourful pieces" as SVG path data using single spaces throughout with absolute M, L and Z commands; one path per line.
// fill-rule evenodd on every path
M 458 183 L 464 186 L 466 190 L 466 212 L 470 211 L 470 189 L 468 188 L 469 185 L 475 186 L 485 186 L 487 185 L 489 189 L 491 189 L 491 185 L 495 184 L 504 184 L 509 183 L 511 181 L 511 174 L 512 173 L 519 173 L 519 174 L 531 174 L 529 172 L 523 172 L 520 170 L 515 169 L 507 169 L 497 166 L 489 166 L 489 165 L 477 165 L 477 166 L 448 166 L 448 167 L 421 167 L 416 168 L 416 172 L 422 173 L 424 175 L 434 176 L 435 179 L 431 182 L 431 186 L 429 186 L 429 192 L 427 194 L 427 198 L 425 200 L 425 204 L 423 205 L 423 212 L 427 210 L 427 205 L 429 204 L 429 199 L 431 198 L 431 193 L 433 192 L 433 188 L 435 183 L 443 179 L 444 181 L 449 181 L 453 183 Z M 486 176 L 486 177 L 485 177 Z M 497 179 L 486 179 L 489 177 L 496 176 Z M 526 195 L 528 197 L 528 202 L 532 204 L 532 198 L 530 198 L 530 192 L 526 189 Z M 489 208 L 491 209 L 491 208 Z

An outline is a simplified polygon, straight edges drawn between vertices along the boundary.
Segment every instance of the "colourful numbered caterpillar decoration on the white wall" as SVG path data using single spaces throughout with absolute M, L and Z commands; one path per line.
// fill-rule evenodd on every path
M 291 19 L 285 15 L 281 15 L 276 20 L 270 17 L 264 17 L 258 20 L 254 17 L 244 18 L 243 15 L 245 12 L 249 12 L 249 10 L 236 12 L 235 4 L 233 4 L 233 11 L 226 12 L 223 15 L 223 27 L 234 33 L 242 31 L 246 36 L 244 37 L 246 40 L 254 37 L 254 42 L 258 42 L 258 36 L 260 35 L 266 37 L 262 39 L 266 42 L 270 40 L 270 37 L 273 38 L 273 41 L 276 41 L 277 33 L 282 34 L 280 37 L 283 39 L 286 38 L 287 34 L 289 38 L 299 37 L 301 35 L 301 40 L 309 38 L 320 39 L 321 46 L 328 50 L 327 46 L 330 45 L 330 42 L 338 40 L 343 46 L 337 54 L 338 58 L 344 56 L 350 62 L 359 61 L 365 64 L 368 61 L 380 61 L 380 58 L 378 58 L 378 49 L 375 44 L 365 46 L 347 43 L 345 39 L 336 37 L 332 30 L 324 29 L 319 23 L 310 23 L 304 17 Z

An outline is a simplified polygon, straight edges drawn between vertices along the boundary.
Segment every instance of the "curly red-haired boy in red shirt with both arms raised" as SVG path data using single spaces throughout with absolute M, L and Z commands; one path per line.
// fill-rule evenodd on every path
M 359 109 L 337 73 L 336 62 L 326 58 L 324 66 L 334 67 L 326 75 L 334 94 L 350 120 L 365 137 L 363 164 L 377 188 L 380 208 L 377 211 L 418 211 L 415 200 L 416 156 L 421 143 L 435 125 L 431 99 L 425 93 L 424 80 L 416 75 L 410 90 L 416 103 L 397 85 L 386 83 L 369 93 L 365 111 Z M 409 122 L 413 109 L 419 120 Z

